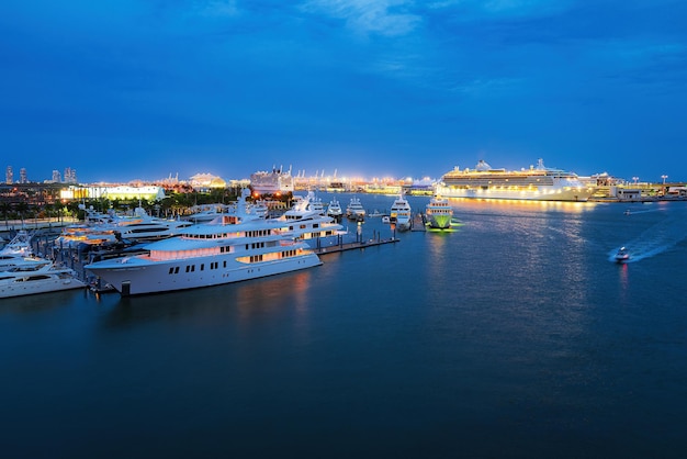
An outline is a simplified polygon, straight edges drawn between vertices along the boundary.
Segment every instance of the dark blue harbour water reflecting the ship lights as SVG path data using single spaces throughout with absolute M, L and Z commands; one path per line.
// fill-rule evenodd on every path
M 452 205 L 307 271 L 3 300 L 3 457 L 683 457 L 687 203 Z

